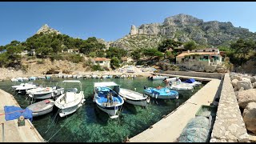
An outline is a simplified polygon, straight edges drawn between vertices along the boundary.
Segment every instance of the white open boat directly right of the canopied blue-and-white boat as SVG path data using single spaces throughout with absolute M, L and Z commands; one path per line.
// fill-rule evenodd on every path
M 120 88 L 120 96 L 124 99 L 125 102 L 137 106 L 146 106 L 150 102 L 150 97 L 144 94 L 140 94 L 133 90 Z

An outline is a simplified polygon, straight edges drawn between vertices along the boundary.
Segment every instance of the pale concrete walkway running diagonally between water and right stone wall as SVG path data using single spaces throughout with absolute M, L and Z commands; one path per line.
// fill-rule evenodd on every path
M 205 79 L 205 78 L 204 78 Z M 176 110 L 155 123 L 152 128 L 130 138 L 130 142 L 176 142 L 182 130 L 191 118 L 195 117 L 201 105 L 210 105 L 219 93 L 220 79 L 211 79 L 190 99 Z

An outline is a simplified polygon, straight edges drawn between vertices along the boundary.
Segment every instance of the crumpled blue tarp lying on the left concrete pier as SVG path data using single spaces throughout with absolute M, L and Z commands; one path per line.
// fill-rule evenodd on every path
M 20 116 L 23 116 L 26 119 L 30 119 L 30 122 L 33 120 L 32 110 L 26 108 L 23 110 L 18 106 L 4 106 L 6 121 L 18 119 Z

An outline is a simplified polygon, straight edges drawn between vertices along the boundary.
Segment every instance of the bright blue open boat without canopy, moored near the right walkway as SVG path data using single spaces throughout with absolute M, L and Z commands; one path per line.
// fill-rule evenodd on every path
M 159 99 L 170 99 L 176 98 L 178 99 L 178 92 L 175 90 L 170 90 L 167 87 L 148 87 L 144 89 L 144 94 L 149 95 L 152 98 L 159 98 Z

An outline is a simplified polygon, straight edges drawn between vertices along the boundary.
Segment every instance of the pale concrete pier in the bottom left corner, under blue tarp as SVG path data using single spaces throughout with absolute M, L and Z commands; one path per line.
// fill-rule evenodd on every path
M 19 106 L 13 95 L 1 89 L 0 99 L 0 114 L 5 113 L 4 106 Z M 18 126 L 18 119 L 6 121 L 5 115 L 0 115 L 0 123 L 4 124 L 4 142 L 44 142 L 38 130 L 28 119 L 25 119 L 25 126 Z M 3 142 L 2 132 L 2 126 L 0 125 L 0 142 Z

